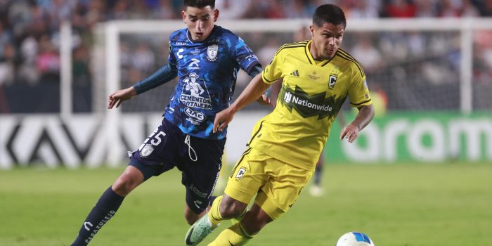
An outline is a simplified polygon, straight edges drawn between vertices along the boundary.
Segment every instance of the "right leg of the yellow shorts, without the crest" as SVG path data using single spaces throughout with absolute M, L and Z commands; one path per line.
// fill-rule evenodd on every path
M 261 186 L 254 203 L 261 207 L 271 219 L 278 219 L 294 205 L 306 186 L 313 171 L 293 167 L 275 160 L 265 167 L 269 177 Z

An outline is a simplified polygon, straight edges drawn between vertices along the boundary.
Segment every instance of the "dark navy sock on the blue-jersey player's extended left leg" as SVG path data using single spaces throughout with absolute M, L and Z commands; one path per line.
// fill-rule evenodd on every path
M 94 235 L 101 230 L 101 227 L 115 215 L 119 205 L 122 205 L 123 199 L 124 197 L 112 191 L 110 186 L 110 188 L 101 195 L 96 206 L 92 208 L 84 221 L 84 224 L 82 224 L 79 235 L 77 235 L 72 246 L 85 246 L 89 244 Z

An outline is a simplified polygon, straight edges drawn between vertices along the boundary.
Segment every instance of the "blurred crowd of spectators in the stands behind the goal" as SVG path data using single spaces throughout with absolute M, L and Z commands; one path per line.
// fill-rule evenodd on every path
M 310 18 L 316 6 L 327 3 L 342 6 L 347 18 L 492 17 L 492 0 L 216 0 L 216 8 L 221 11 L 221 19 Z M 179 19 L 182 4 L 182 0 L 0 0 L 0 90 L 2 86 L 59 82 L 59 32 L 60 24 L 65 20 L 72 23 L 74 30 L 72 71 L 75 85 L 90 90 L 90 52 L 96 23 L 122 19 Z M 439 55 L 439 50 L 443 49 L 438 45 L 439 41 L 451 46 L 456 45 L 455 39 L 459 41 L 459 37 L 446 35 L 427 37 L 410 33 L 403 37 L 386 34 L 384 38 L 376 39 L 370 34 L 360 34 L 349 41 L 349 52 L 361 61 L 368 73 L 377 74 L 382 60 L 418 60 L 429 50 Z M 480 45 L 475 51 L 480 55 L 476 66 L 492 67 L 492 34 L 483 32 L 476 36 L 479 36 L 476 42 Z M 254 47 L 259 56 L 270 56 L 280 45 L 278 40 L 267 40 L 262 46 Z M 409 48 L 401 48 L 404 45 L 399 45 L 399 41 L 408 43 L 405 47 Z M 148 75 L 165 62 L 159 56 L 165 53 L 164 46 L 155 48 L 141 41 L 122 43 L 121 63 L 122 67 L 129 68 L 129 83 Z M 445 76 L 451 77 L 459 64 L 453 63 L 455 53 L 446 55 L 449 65 Z M 442 81 L 439 78 L 442 67 L 435 70 L 432 65 L 429 63 L 429 68 L 418 71 L 427 74 L 428 79 Z M 394 74 L 399 76 L 397 71 Z

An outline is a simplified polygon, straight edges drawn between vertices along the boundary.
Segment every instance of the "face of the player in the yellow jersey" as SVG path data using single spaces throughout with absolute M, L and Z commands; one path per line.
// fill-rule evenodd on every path
M 328 60 L 335 56 L 344 38 L 344 25 L 325 22 L 321 27 L 311 25 L 311 55 L 318 60 Z

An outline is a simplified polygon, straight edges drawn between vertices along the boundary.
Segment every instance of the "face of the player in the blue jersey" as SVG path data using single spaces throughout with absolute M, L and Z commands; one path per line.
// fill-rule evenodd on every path
M 219 17 L 219 10 L 214 10 L 210 6 L 204 8 L 188 6 L 185 11 L 181 11 L 181 16 L 190 30 L 191 38 L 195 41 L 203 41 L 212 33 L 214 22 Z

